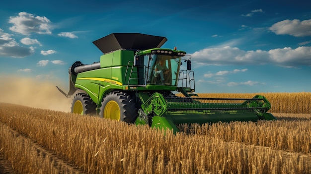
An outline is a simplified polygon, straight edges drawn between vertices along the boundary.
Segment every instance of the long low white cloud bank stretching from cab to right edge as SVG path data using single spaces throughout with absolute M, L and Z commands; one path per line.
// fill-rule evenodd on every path
M 311 66 L 311 47 L 296 49 L 283 48 L 269 51 L 243 51 L 239 48 L 207 48 L 190 54 L 193 61 L 202 65 L 246 65 L 246 64 L 276 64 L 296 67 Z

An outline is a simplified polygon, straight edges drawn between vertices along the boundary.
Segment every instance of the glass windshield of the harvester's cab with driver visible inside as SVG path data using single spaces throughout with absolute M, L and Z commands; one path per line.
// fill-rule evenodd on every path
M 146 55 L 148 62 L 147 84 L 177 86 L 180 57 L 169 55 Z

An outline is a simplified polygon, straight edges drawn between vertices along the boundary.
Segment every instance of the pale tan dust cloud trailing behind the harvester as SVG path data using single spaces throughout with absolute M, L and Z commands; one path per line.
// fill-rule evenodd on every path
M 72 98 L 66 98 L 57 90 L 56 85 L 60 85 L 60 82 L 0 76 L 0 102 L 70 112 Z M 68 86 L 59 87 L 68 92 Z

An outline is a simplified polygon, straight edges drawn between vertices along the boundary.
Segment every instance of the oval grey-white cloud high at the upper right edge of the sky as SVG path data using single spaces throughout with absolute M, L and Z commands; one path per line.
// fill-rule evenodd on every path
M 303 21 L 287 19 L 273 24 L 269 29 L 277 35 L 311 36 L 311 19 Z

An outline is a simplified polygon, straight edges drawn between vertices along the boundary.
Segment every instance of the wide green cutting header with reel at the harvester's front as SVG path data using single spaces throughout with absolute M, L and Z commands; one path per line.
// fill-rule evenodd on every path
M 276 120 L 263 96 L 252 99 L 163 97 L 154 93 L 139 109 L 136 124 L 169 128 L 178 132 L 183 123 Z

